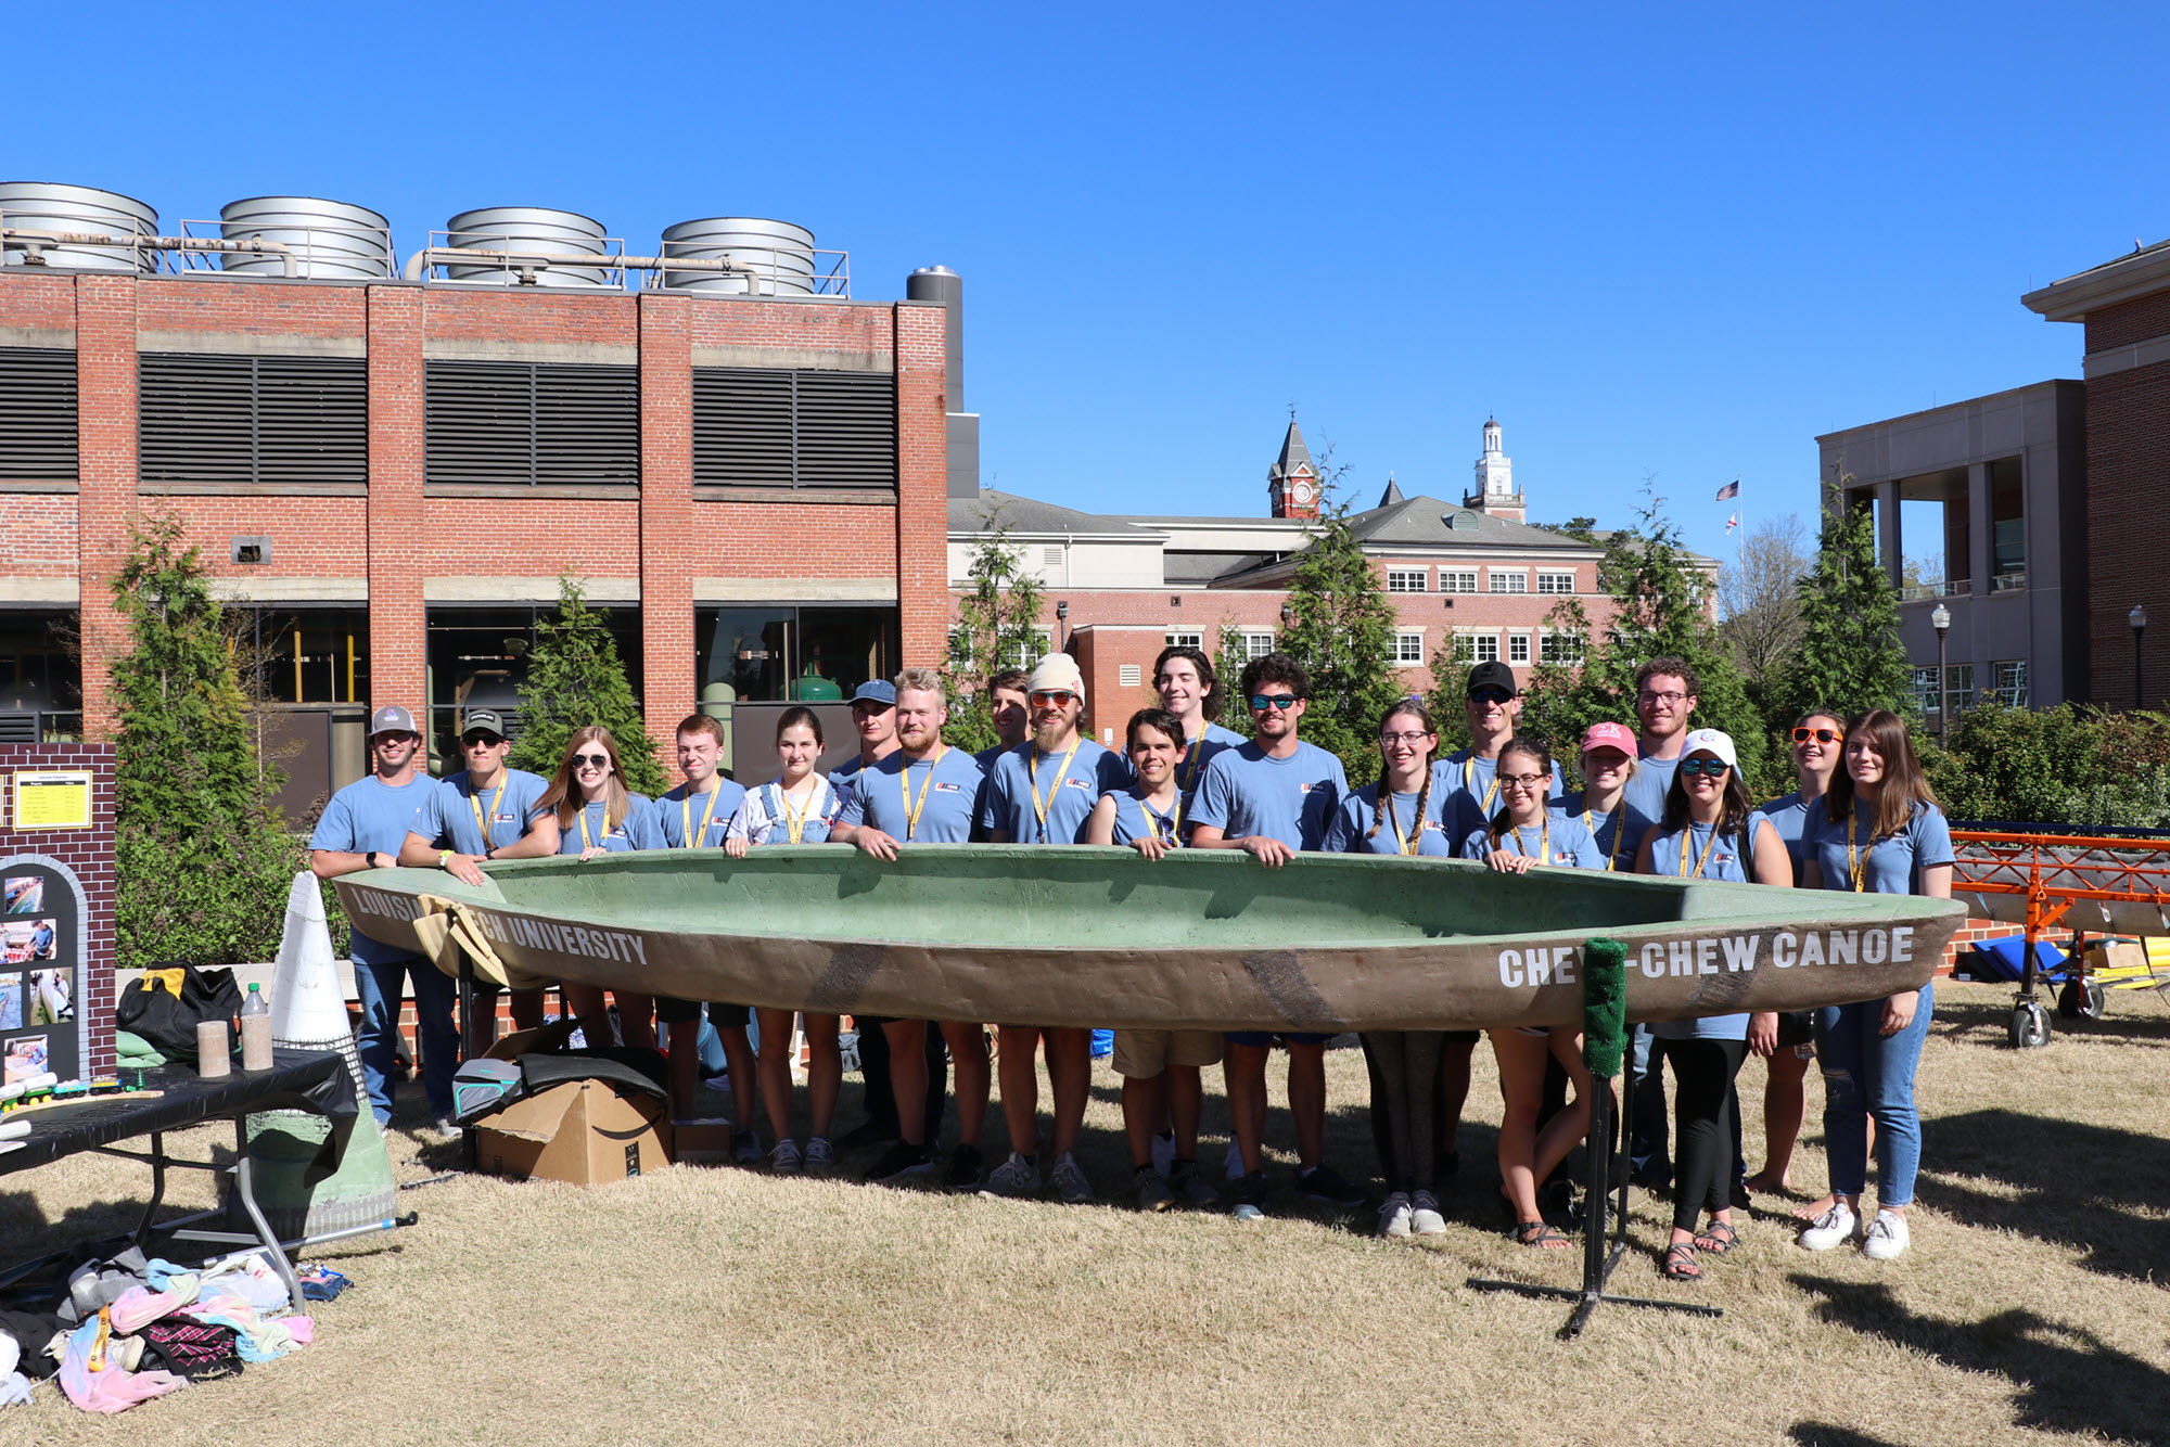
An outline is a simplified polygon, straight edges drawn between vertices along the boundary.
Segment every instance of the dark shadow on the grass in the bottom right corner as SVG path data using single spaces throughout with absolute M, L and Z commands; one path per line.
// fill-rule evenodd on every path
M 2170 1445 L 2161 1410 L 2170 1373 L 2085 1328 L 2027 1308 L 1981 1321 L 1925 1317 L 1884 1282 L 1795 1273 L 1792 1284 L 1821 1297 L 1816 1312 L 1834 1326 L 1927 1352 L 1957 1371 L 2003 1373 L 2016 1388 L 2012 1406 L 2022 1427 Z

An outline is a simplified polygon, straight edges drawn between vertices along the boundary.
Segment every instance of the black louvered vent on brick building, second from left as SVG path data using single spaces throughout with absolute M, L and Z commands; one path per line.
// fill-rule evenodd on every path
M 143 482 L 369 482 L 369 362 L 145 351 L 137 447 Z

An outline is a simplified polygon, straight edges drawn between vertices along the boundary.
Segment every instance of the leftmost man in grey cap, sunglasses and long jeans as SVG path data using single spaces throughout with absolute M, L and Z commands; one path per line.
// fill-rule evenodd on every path
M 395 870 L 423 805 L 436 794 L 436 779 L 414 770 L 421 731 L 399 705 L 369 716 L 371 772 L 332 794 L 308 840 L 308 866 L 317 879 L 339 879 L 360 870 Z M 399 1057 L 399 1002 L 414 981 L 414 1028 L 421 1033 L 421 1080 L 430 1096 L 430 1124 L 451 1119 L 451 1072 L 458 1067 L 460 1035 L 451 1028 L 451 978 L 419 955 L 380 944 L 360 926 L 347 933 L 354 957 L 354 989 L 362 998 L 358 1052 L 362 1085 L 378 1126 L 393 1119 L 393 1063 Z

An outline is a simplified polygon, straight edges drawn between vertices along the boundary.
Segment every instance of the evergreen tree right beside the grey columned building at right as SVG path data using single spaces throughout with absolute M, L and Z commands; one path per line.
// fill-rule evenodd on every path
M 1868 508 L 1823 514 L 1816 564 L 1801 579 L 1801 644 L 1779 670 L 1788 681 L 1784 729 L 1801 709 L 1831 707 L 1914 714 L 1914 673 L 1899 644 L 1899 590 L 1877 562 L 1877 525 Z

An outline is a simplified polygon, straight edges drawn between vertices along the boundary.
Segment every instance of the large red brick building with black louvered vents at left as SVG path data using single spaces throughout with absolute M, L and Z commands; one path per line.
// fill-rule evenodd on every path
M 108 579 L 154 512 L 265 636 L 291 807 L 360 772 L 369 705 L 430 705 L 445 748 L 462 707 L 510 703 L 560 573 L 664 738 L 699 701 L 944 653 L 942 306 L 24 260 L 0 269 L 0 742 L 78 712 L 111 733 Z

